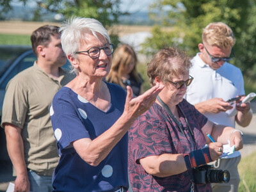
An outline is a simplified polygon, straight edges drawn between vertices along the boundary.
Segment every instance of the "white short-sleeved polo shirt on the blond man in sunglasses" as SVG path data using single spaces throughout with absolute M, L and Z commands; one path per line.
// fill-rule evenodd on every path
M 225 62 L 223 66 L 214 70 L 204 63 L 199 54 L 200 52 L 191 60 L 193 65 L 189 74 L 194 79 L 184 95 L 188 102 L 197 104 L 216 97 L 228 100 L 237 95 L 244 95 L 243 74 L 239 68 Z M 204 113 L 204 115 L 216 124 L 235 127 L 235 115 L 230 116 L 234 109 L 218 114 Z

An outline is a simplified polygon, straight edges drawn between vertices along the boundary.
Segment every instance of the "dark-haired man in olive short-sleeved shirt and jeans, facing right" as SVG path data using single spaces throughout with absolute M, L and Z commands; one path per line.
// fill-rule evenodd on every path
M 15 191 L 52 191 L 51 177 L 59 156 L 49 109 L 55 93 L 72 79 L 60 68 L 67 58 L 58 30 L 46 25 L 32 33 L 37 61 L 6 87 L 1 126 L 17 173 Z

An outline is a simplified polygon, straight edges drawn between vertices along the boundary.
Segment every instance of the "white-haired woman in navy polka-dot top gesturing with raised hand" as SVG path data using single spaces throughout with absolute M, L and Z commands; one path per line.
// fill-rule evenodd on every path
M 63 23 L 61 44 L 76 78 L 56 93 L 51 120 L 60 162 L 52 176 L 54 191 L 126 191 L 127 131 L 147 111 L 163 86 L 140 97 L 102 81 L 111 68 L 113 44 L 95 19 L 74 17 Z

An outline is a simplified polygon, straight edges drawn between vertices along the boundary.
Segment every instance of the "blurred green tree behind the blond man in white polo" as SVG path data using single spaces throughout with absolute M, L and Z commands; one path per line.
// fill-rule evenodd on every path
M 150 6 L 150 17 L 157 26 L 147 38 L 143 53 L 152 55 L 162 47 L 176 46 L 189 56 L 198 52 L 202 29 L 210 22 L 225 22 L 236 36 L 234 65 L 244 76 L 256 76 L 256 4 L 255 0 L 159 0 Z M 166 31 L 163 27 L 171 27 Z

